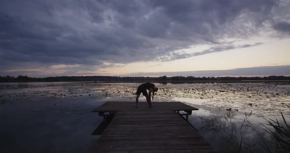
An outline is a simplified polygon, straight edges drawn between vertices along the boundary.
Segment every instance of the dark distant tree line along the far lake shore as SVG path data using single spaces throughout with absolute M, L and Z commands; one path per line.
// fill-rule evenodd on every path
M 62 82 L 62 81 L 117 81 L 117 82 L 134 82 L 134 81 L 241 81 L 241 80 L 290 80 L 285 76 L 269 76 L 269 77 L 111 77 L 111 76 L 63 76 L 63 77 L 28 77 L 18 76 L 10 77 L 0 76 L 0 82 Z

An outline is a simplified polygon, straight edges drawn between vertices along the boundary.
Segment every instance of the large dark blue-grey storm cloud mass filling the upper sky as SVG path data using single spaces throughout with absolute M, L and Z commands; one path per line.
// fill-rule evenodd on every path
M 173 52 L 246 38 L 266 22 L 289 32 L 281 11 L 288 5 L 278 0 L 1 0 L 0 68 L 14 68 L 9 63 L 21 68 L 27 62 L 104 66 L 228 51 L 236 47 Z M 276 16 L 281 21 L 274 21 Z

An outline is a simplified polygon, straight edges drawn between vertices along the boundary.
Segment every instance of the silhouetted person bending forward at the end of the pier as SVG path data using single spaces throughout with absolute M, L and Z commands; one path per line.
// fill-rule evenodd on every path
M 147 90 L 149 90 L 149 95 L 147 93 Z M 151 93 L 152 93 L 152 101 L 154 99 L 154 92 L 157 92 L 158 88 L 155 87 L 155 85 L 153 83 L 143 83 L 141 85 L 138 86 L 137 92 L 136 92 L 136 108 L 138 108 L 138 100 L 140 97 L 140 94 L 142 93 L 143 96 L 146 97 L 146 101 L 148 103 L 149 108 L 154 107 L 151 103 Z

